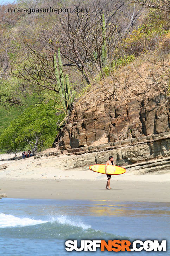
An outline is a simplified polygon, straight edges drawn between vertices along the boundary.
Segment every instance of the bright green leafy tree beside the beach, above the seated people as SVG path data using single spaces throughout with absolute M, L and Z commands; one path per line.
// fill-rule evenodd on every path
M 53 105 L 50 101 L 25 109 L 0 135 L 1 149 L 17 151 L 29 144 L 34 154 L 37 150 L 50 147 L 57 134 L 57 121 L 63 119 L 62 114 L 56 115 Z

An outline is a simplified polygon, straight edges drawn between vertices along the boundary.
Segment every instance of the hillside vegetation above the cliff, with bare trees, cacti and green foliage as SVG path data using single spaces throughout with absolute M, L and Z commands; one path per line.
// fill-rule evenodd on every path
M 51 147 L 67 121 L 76 123 L 71 111 L 89 90 L 102 88 L 102 95 L 123 99 L 127 87 L 121 85 L 120 94 L 120 70 L 124 67 L 121 76 L 128 82 L 127 70 L 138 70 L 140 60 L 150 63 L 152 79 L 158 79 L 156 66 L 162 67 L 168 92 L 169 12 L 161 4 L 19 0 L 0 5 L 0 151 Z M 8 12 L 50 6 L 78 11 Z

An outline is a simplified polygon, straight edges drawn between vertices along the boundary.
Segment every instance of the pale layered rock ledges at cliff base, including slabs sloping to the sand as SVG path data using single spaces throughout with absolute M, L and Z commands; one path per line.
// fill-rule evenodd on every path
M 48 149 L 34 158 L 52 155 L 59 157 L 58 167 L 61 169 L 78 167 L 85 171 L 89 165 L 105 163 L 108 156 L 112 155 L 115 164 L 125 167 L 128 172 L 163 174 L 170 171 L 170 133 L 163 132 L 67 150 Z

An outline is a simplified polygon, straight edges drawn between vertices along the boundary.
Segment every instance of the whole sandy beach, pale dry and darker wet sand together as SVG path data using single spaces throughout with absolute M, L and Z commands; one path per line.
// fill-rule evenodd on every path
M 67 170 L 65 157 L 0 161 L 0 165 L 8 165 L 0 170 L 0 194 L 11 198 L 169 202 L 170 173 L 112 175 L 112 190 L 105 190 L 106 175 L 87 166 Z M 6 159 L 4 155 L 1 158 Z

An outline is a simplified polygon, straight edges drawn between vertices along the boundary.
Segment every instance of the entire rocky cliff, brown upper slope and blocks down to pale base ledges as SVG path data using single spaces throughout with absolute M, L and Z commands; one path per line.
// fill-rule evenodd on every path
M 150 72 L 147 63 L 140 67 L 140 76 L 139 70 L 136 75 L 136 70 L 129 69 L 126 77 L 124 70 L 116 82 L 117 97 L 108 97 L 111 82 L 107 92 L 93 89 L 76 103 L 70 118 L 73 122 L 65 125 L 53 143 L 60 153 L 70 155 L 65 167 L 103 163 L 113 155 L 119 166 L 145 166 L 152 161 L 151 170 L 155 170 L 156 162 L 162 161 L 160 168 L 170 168 L 167 71 L 156 65 L 154 73 L 153 68 Z

